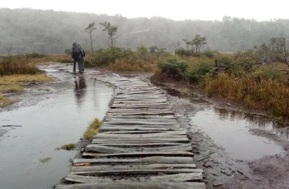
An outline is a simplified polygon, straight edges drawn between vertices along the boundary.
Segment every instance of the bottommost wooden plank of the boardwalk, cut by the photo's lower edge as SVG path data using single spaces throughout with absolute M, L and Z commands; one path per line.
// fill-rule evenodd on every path
M 62 185 L 59 184 L 55 189 L 206 189 L 205 183 L 196 182 L 109 182 L 109 183 L 83 183 Z

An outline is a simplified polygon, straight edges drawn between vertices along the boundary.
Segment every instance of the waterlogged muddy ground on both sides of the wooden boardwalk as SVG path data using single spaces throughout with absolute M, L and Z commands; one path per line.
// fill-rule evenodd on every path
M 22 100 L 0 110 L 3 188 L 50 188 L 59 183 L 79 151 L 55 148 L 77 143 L 88 123 L 95 117 L 101 120 L 109 110 L 114 89 L 93 79 L 100 71 L 73 75 L 70 65 L 41 69 L 55 80 L 11 94 Z M 150 75 L 120 75 L 150 83 Z M 289 188 L 288 128 L 261 115 L 220 108 L 166 83 L 154 84 L 166 94 L 186 130 L 206 188 Z

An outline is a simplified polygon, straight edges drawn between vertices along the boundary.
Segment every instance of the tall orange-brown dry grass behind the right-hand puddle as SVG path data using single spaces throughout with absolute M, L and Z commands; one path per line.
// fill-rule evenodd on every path
M 209 96 L 216 95 L 229 100 L 244 102 L 247 108 L 270 111 L 276 117 L 289 119 L 288 84 L 274 79 L 253 80 L 249 76 L 234 77 L 219 74 L 207 77 L 202 83 Z

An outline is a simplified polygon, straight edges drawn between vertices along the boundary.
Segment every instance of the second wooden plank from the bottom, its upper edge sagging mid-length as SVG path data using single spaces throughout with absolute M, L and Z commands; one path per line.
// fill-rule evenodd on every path
M 203 179 L 201 172 L 193 173 L 179 173 L 172 175 L 157 175 L 157 176 L 146 176 L 146 177 L 127 177 L 126 179 L 116 179 L 111 177 L 97 177 L 97 176 L 82 176 L 68 173 L 65 180 L 72 181 L 76 183 L 96 183 L 96 182 L 131 182 L 131 181 L 141 181 L 141 182 L 151 182 L 151 181 L 189 181 L 189 180 L 200 180 Z

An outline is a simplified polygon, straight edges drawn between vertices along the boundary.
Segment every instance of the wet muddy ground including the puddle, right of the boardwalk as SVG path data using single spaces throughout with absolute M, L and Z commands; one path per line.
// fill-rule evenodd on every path
M 167 92 L 187 129 L 207 188 L 289 188 L 288 127 L 262 112 L 209 100 L 186 84 L 152 82 Z

